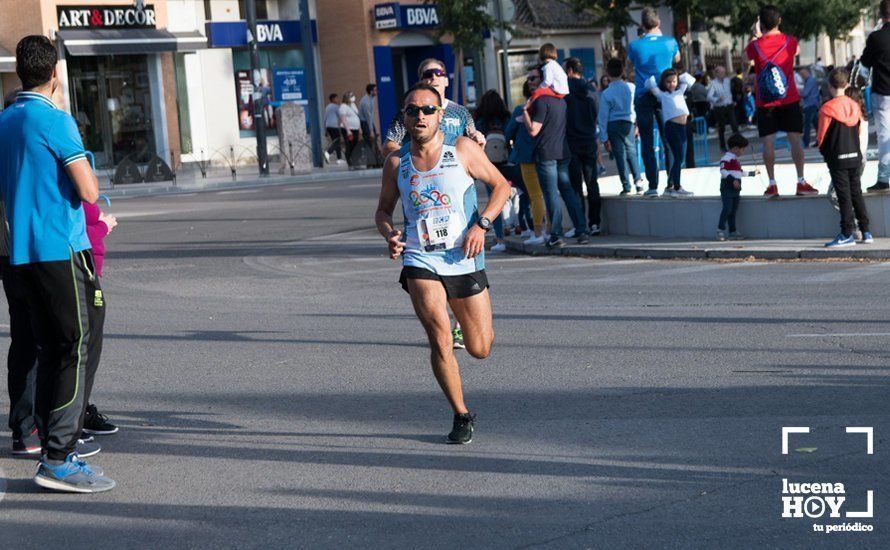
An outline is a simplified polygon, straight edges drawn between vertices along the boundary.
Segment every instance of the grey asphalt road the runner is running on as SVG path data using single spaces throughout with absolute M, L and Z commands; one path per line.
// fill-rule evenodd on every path
M 476 437 L 447 446 L 376 189 L 115 201 L 94 401 L 118 487 L 0 458 L 0 548 L 888 547 L 890 264 L 489 257 Z M 782 426 L 811 433 L 783 455 Z M 842 515 L 871 489 L 874 517 L 782 519 L 783 478 L 843 483 Z

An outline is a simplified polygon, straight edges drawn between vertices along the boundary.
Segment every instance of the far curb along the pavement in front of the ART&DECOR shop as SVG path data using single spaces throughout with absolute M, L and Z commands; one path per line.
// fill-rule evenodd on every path
M 225 191 L 228 189 L 245 189 L 252 187 L 275 187 L 280 185 L 293 185 L 300 183 L 320 183 L 328 181 L 344 181 L 344 180 L 360 180 L 367 178 L 379 178 L 382 170 L 379 168 L 371 170 L 349 170 L 337 172 L 312 172 L 308 174 L 297 174 L 294 176 L 268 176 L 259 178 L 257 176 L 244 180 L 217 180 L 217 181 L 201 181 L 200 183 L 188 183 L 185 185 L 151 185 L 145 184 L 129 184 L 118 185 L 117 187 L 100 188 L 99 193 L 109 198 L 122 197 L 148 197 L 155 195 L 180 195 L 185 193 L 201 193 L 209 191 Z

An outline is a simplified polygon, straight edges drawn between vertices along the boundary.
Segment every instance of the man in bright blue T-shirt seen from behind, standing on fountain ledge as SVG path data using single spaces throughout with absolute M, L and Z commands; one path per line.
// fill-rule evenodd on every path
M 661 107 L 658 99 L 646 90 L 646 81 L 654 76 L 661 79 L 661 73 L 680 61 L 680 46 L 673 37 L 661 34 L 661 20 L 655 8 L 643 8 L 640 14 L 640 27 L 645 34 L 630 43 L 627 58 L 634 64 L 636 92 L 634 107 L 637 112 L 637 126 L 640 129 L 640 148 L 643 152 L 643 165 L 646 179 L 649 180 L 647 197 L 658 196 L 658 161 L 655 158 L 655 125 L 659 135 L 662 132 Z

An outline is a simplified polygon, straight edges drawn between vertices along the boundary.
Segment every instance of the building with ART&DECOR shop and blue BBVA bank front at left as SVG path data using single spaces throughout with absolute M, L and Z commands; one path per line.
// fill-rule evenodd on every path
M 274 106 L 305 102 L 299 0 L 257 0 L 261 86 Z M 0 0 L 0 86 L 16 90 L 14 51 L 28 34 L 55 41 L 62 89 L 97 167 L 155 156 L 255 162 L 250 61 L 239 0 Z M 223 157 L 227 157 L 226 160 Z

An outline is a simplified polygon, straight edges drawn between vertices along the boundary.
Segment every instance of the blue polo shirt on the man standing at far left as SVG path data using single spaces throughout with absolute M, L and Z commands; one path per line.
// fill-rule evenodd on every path
M 0 113 L 0 192 L 13 265 L 68 260 L 90 248 L 80 196 L 65 167 L 86 158 L 74 118 L 20 92 Z

